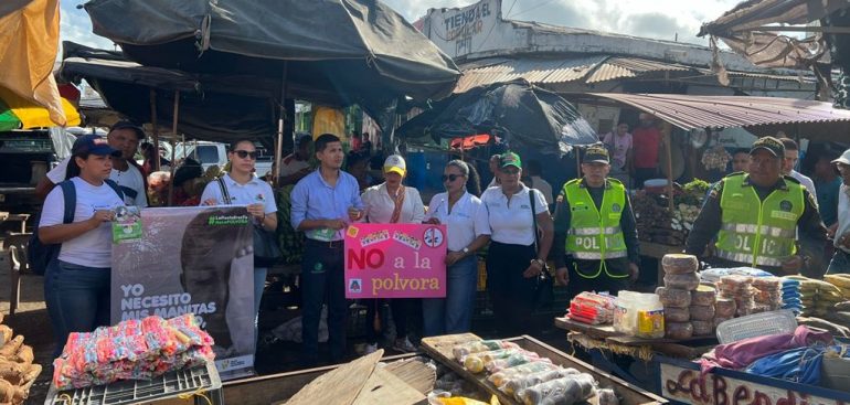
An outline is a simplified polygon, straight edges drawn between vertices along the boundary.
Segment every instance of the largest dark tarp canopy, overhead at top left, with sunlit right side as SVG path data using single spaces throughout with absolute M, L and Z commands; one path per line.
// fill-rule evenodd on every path
M 374 0 L 93 0 L 85 10 L 96 34 L 142 65 L 278 81 L 286 72 L 287 97 L 369 113 L 448 95 L 460 75 Z

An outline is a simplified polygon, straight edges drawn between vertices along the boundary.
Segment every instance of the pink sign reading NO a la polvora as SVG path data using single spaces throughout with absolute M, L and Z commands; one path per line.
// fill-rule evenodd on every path
M 446 226 L 352 224 L 346 231 L 346 298 L 446 296 Z

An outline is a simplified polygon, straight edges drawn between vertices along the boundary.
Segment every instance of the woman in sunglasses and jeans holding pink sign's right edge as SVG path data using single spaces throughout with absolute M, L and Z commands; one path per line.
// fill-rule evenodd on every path
M 464 333 L 470 329 L 475 291 L 478 283 L 476 252 L 487 245 L 490 236 L 487 223 L 476 223 L 481 200 L 467 191 L 469 166 L 453 160 L 443 169 L 445 193 L 431 199 L 426 224 L 445 224 L 448 254 L 446 255 L 446 298 L 425 298 L 422 301 L 424 335 Z

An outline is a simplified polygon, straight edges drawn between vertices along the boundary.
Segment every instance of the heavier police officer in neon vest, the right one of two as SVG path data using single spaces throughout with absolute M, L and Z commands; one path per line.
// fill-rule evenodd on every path
M 710 191 L 686 252 L 703 256 L 716 235 L 714 257 L 708 259 L 712 265 L 820 278 L 827 230 L 815 198 L 799 181 L 780 174 L 782 140 L 756 140 L 750 157 L 748 173 L 732 173 Z

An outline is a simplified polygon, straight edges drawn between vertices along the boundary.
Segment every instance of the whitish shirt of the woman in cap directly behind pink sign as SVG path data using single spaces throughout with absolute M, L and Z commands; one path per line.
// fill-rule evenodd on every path
M 366 189 L 361 195 L 365 219 L 375 224 L 389 223 L 395 211 L 395 201 L 386 192 L 386 183 L 373 185 Z M 401 224 L 421 224 L 425 217 L 425 206 L 422 204 L 419 191 L 412 186 L 404 188 L 404 202 L 402 212 L 399 215 Z

